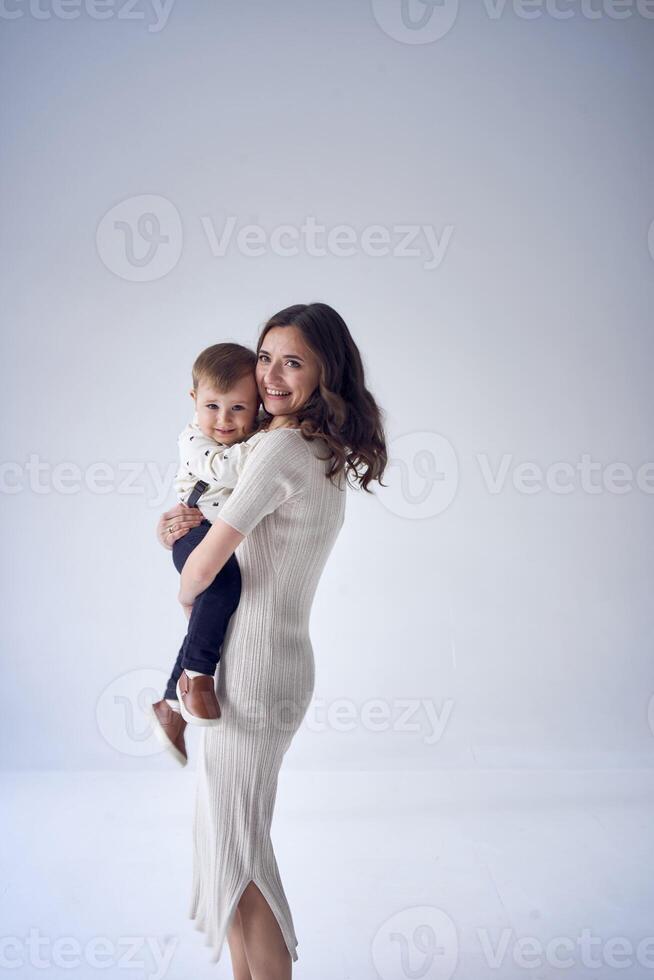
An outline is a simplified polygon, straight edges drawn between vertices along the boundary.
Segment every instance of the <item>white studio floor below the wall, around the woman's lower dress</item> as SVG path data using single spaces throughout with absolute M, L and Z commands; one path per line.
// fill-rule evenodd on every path
M 187 917 L 194 768 L 6 771 L 2 963 L 231 977 Z M 306 980 L 654 977 L 654 770 L 282 769 Z

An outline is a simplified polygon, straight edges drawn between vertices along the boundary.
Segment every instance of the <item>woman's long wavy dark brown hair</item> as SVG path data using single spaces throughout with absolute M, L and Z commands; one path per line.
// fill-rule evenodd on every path
M 257 355 L 273 327 L 297 327 L 320 363 L 318 387 L 297 412 L 302 435 L 326 443 L 331 456 L 328 477 L 345 470 L 349 482 L 371 493 L 368 484 L 382 483 L 388 462 L 386 437 L 382 411 L 366 388 L 361 354 L 347 324 L 326 303 L 289 306 L 264 326 Z M 266 417 L 272 418 L 267 413 Z

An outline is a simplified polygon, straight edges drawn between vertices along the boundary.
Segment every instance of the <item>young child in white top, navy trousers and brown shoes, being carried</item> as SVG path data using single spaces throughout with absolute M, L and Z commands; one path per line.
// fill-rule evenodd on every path
M 180 501 L 197 506 L 203 520 L 173 544 L 178 572 L 220 516 L 221 503 L 236 486 L 249 452 L 258 441 L 245 441 L 258 428 L 256 362 L 254 351 L 225 343 L 207 347 L 193 364 L 190 394 L 195 416 L 178 438 L 175 492 Z M 241 574 L 232 555 L 193 603 L 164 698 L 151 706 L 155 734 L 182 765 L 187 761 L 186 722 L 205 726 L 219 723 L 214 673 L 240 593 Z

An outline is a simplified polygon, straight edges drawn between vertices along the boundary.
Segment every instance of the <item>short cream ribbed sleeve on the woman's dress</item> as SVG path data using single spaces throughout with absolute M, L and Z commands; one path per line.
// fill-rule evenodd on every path
M 311 450 L 294 429 L 273 429 L 252 449 L 220 519 L 249 534 L 262 518 L 305 492 Z

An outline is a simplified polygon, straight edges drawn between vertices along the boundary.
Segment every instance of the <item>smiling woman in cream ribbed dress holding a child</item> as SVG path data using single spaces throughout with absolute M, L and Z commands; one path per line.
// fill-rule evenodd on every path
M 235 980 L 287 980 L 297 938 L 270 840 L 277 777 L 309 706 L 309 614 L 345 512 L 348 480 L 381 481 L 381 413 L 342 318 L 323 303 L 266 323 L 257 385 L 267 414 L 238 485 L 181 574 L 191 604 L 238 548 L 242 591 L 216 694 L 221 724 L 203 730 L 190 915 L 214 962 L 225 935 Z M 198 515 L 178 504 L 159 522 L 166 547 Z

